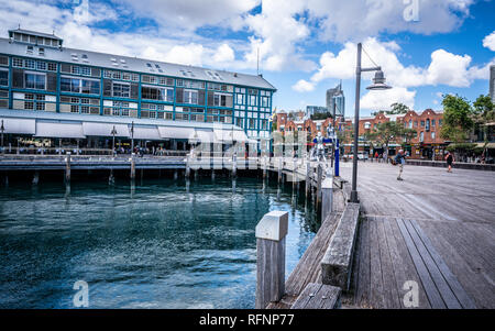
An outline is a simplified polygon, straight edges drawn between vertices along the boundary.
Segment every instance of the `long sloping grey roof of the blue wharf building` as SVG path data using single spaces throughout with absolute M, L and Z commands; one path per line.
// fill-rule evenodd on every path
M 114 70 L 138 71 L 150 75 L 169 76 L 183 79 L 198 79 L 217 84 L 232 84 L 239 86 L 270 89 L 274 91 L 276 90 L 273 85 L 257 75 L 215 70 L 195 66 L 185 66 L 165 62 L 143 59 L 138 57 L 120 56 L 66 47 L 46 47 L 44 56 L 37 55 L 37 52 L 34 52 L 33 55 L 30 55 L 26 54 L 25 44 L 10 42 L 8 38 L 0 38 L 0 53 L 45 60 L 57 60 L 86 66 L 97 66 Z M 152 68 L 150 68 L 147 64 L 150 64 Z M 158 65 L 158 67 L 156 67 L 156 65 Z

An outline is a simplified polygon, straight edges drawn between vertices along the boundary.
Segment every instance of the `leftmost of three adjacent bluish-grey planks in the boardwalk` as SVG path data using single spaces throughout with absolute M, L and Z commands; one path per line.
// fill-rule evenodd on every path
M 431 308 L 435 309 L 447 308 L 446 304 L 443 302 L 443 299 L 440 296 L 440 293 L 438 291 L 433 280 L 430 277 L 430 274 L 428 273 L 425 263 L 421 260 L 418 250 L 416 249 L 416 245 L 413 242 L 413 239 L 410 238 L 408 231 L 406 230 L 404 221 L 402 219 L 397 219 L 396 221 L 397 225 L 399 227 L 400 233 L 403 234 L 404 241 L 406 242 L 410 257 L 413 258 L 413 262 L 416 266 L 419 278 L 421 279 L 422 286 L 425 287 L 425 291 L 431 305 Z

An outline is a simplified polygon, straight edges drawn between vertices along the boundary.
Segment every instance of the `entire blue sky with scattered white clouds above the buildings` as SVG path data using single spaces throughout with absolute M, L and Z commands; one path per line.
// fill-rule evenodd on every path
M 341 79 L 353 113 L 355 44 L 394 89 L 369 92 L 362 114 L 404 102 L 441 109 L 442 93 L 488 92 L 494 1 L 486 0 L 0 0 L 0 33 L 55 31 L 65 45 L 256 74 L 284 110 L 324 106 Z M 371 62 L 364 55 L 364 66 Z

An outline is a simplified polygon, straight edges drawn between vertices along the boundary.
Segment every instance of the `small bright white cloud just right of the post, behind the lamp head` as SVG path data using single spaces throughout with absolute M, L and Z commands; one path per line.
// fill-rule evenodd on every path
M 404 87 L 394 87 L 384 91 L 369 91 L 361 98 L 361 108 L 371 110 L 387 110 L 394 102 L 402 102 L 414 109 L 416 91 Z

